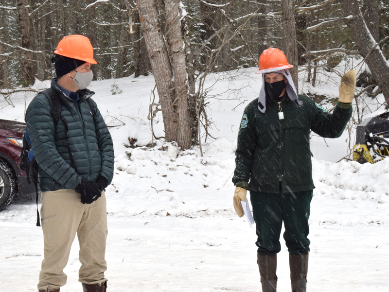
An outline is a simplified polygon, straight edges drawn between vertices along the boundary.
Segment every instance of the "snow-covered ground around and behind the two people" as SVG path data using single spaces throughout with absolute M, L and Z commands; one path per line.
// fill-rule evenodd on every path
M 215 98 L 208 100 L 214 122 L 211 134 L 217 138 L 203 145 L 203 157 L 198 147 L 179 152 L 175 145 L 161 141 L 154 148 L 125 147 L 128 137 L 136 138 L 137 145 L 152 141 L 147 120 L 152 76 L 91 84 L 115 147 L 115 175 L 106 191 L 109 291 L 261 291 L 255 232 L 233 210 L 231 182 L 243 109 L 260 88 L 260 76 L 254 71 L 209 77 L 209 85 L 217 80 L 210 93 Z M 301 91 L 336 97 L 340 77 L 320 78 L 318 87 L 302 84 Z M 113 84 L 123 93 L 112 95 Z M 23 121 L 32 97 L 13 96 L 14 107 L 0 100 L 0 119 Z M 369 102 L 371 111 L 377 104 Z M 157 137 L 163 136 L 160 115 L 153 127 Z M 347 155 L 347 139 L 348 133 L 333 140 L 311 140 L 316 189 L 311 204 L 308 290 L 388 291 L 389 158 L 374 165 L 335 163 Z M 43 237 L 35 216 L 35 201 L 27 199 L 16 198 L 0 211 L 1 290 L 36 290 Z M 282 238 L 281 243 L 278 290 L 290 291 Z M 68 283 L 61 292 L 81 290 L 79 266 L 75 240 L 65 269 Z

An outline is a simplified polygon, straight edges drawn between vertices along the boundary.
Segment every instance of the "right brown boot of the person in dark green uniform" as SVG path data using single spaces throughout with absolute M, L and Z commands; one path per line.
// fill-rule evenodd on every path
M 292 292 L 306 292 L 308 274 L 308 254 L 289 254 L 289 267 Z

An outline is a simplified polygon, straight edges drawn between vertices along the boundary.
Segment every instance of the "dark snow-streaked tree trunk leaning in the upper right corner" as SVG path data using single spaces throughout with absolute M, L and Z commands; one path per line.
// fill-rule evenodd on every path
M 354 42 L 359 52 L 365 58 L 371 75 L 384 94 L 387 108 L 389 107 L 389 67 L 387 60 L 377 42 L 371 37 L 371 33 L 365 25 L 362 13 L 355 0 L 340 0 L 345 22 L 353 35 Z M 350 17 L 352 16 L 352 17 Z

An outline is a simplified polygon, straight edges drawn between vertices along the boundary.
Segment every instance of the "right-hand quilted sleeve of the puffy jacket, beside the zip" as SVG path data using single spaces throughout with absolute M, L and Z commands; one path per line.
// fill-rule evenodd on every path
M 96 118 L 96 136 L 101 150 L 101 171 L 99 175 L 106 178 L 108 184 L 113 178 L 114 152 L 111 134 L 109 134 L 106 122 L 104 121 L 96 103 L 92 100 Z

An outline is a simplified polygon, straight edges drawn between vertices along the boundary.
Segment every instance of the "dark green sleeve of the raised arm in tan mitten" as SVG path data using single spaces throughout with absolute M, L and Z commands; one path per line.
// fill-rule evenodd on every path
M 351 103 L 338 102 L 332 114 L 324 112 L 316 104 L 311 100 L 308 105 L 311 130 L 325 138 L 340 137 L 353 113 Z

